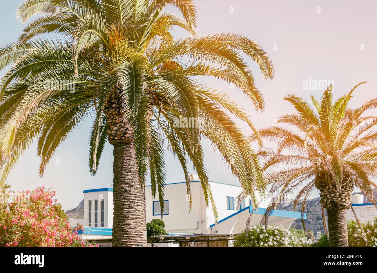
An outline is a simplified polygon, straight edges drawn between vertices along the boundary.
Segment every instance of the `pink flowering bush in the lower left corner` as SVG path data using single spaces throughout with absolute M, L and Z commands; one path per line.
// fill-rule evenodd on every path
M 40 187 L 13 194 L 27 198 L 6 200 L 0 206 L 0 246 L 98 247 L 77 236 L 82 226 L 70 227 L 61 205 L 53 199 L 55 191 Z

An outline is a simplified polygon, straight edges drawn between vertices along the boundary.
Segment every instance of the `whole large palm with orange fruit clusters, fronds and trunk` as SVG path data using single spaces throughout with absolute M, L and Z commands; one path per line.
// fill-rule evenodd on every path
M 183 18 L 163 12 L 169 5 Z M 0 80 L 0 182 L 35 139 L 43 175 L 58 145 L 92 115 L 92 174 L 106 141 L 113 145 L 113 246 L 146 244 L 148 173 L 163 210 L 164 141 L 184 170 L 189 208 L 188 159 L 216 215 L 202 137 L 215 144 L 245 191 L 264 190 L 256 154 L 232 118 L 254 129 L 248 115 L 226 93 L 193 77 L 234 84 L 262 111 L 263 97 L 242 54 L 266 80 L 274 71 L 256 42 L 234 33 L 197 36 L 191 0 L 25 0 L 17 11 L 23 22 L 36 14 L 19 40 L 0 50 L 0 69 L 11 65 Z M 190 36 L 175 40 L 169 30 L 177 26 Z

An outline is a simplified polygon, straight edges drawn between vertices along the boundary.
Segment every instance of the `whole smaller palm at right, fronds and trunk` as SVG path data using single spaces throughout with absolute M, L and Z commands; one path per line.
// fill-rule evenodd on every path
M 373 190 L 377 187 L 373 182 L 377 174 L 377 133 L 373 130 L 377 116 L 363 115 L 377 107 L 377 99 L 355 109 L 348 106 L 352 93 L 362 83 L 336 101 L 330 85 L 320 100 L 311 97 L 314 107 L 290 94 L 284 100 L 290 102 L 297 113 L 283 115 L 277 123 L 293 126 L 294 130 L 276 125 L 259 131 L 262 138 L 277 144 L 276 150 L 264 149 L 258 153 L 265 162 L 264 170 L 273 168 L 265 176 L 274 198 L 262 221 L 266 223 L 277 204 L 297 191 L 294 206 L 302 201 L 303 213 L 308 196 L 318 189 L 330 246 L 348 246 L 345 212 L 352 208 L 352 190 L 358 187 L 374 203 Z M 255 136 L 251 135 L 250 139 L 254 140 Z M 286 168 L 274 169 L 278 165 Z M 302 223 L 306 231 L 303 220 Z

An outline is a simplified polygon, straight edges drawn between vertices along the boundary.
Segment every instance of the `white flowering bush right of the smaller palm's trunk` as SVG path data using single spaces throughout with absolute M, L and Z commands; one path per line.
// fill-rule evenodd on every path
M 354 220 L 348 220 L 349 247 L 377 247 L 377 218 L 373 221 L 361 222 L 364 232 Z

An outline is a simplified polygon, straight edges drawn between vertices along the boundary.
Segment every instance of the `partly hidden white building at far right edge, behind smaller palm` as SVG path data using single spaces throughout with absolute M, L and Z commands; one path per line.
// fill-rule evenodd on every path
M 362 194 L 352 195 L 352 207 L 360 221 L 372 221 L 377 217 L 377 209 L 373 203 L 364 203 L 364 196 Z M 346 218 L 352 220 L 356 219 L 351 209 L 347 210 Z

